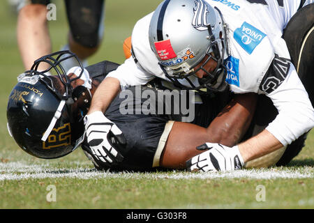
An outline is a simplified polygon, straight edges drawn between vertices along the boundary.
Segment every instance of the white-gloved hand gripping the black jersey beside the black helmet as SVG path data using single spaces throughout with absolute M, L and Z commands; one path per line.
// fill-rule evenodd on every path
M 103 112 L 86 115 L 84 125 L 87 143 L 96 159 L 107 164 L 117 164 L 124 159 L 117 146 L 126 144 L 124 134 Z

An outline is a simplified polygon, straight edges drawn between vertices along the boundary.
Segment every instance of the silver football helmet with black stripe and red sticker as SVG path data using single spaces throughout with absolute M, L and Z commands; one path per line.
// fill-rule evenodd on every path
M 227 59 L 227 26 L 218 8 L 204 0 L 165 0 L 156 8 L 149 25 L 149 43 L 158 58 L 165 75 L 184 89 L 210 89 L 223 91 Z M 203 59 L 202 66 L 194 69 Z M 212 72 L 204 65 L 214 59 L 216 69 Z M 199 78 L 195 86 L 188 77 L 198 70 L 206 77 Z M 191 88 L 178 82 L 186 79 Z

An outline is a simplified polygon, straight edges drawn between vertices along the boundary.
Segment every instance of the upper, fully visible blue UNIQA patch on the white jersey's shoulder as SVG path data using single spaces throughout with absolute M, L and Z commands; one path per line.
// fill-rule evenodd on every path
M 256 29 L 251 24 L 244 22 L 241 28 L 234 31 L 233 38 L 248 54 L 252 54 L 265 36 L 267 36 L 265 33 Z

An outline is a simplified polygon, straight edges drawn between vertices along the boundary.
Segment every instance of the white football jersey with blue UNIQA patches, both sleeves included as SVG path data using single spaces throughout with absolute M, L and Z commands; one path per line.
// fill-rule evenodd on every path
M 225 63 L 226 81 L 230 90 L 234 93 L 263 93 L 271 98 L 279 115 L 267 130 L 283 145 L 290 144 L 313 128 L 313 107 L 303 84 L 296 81 L 299 77 L 294 66 L 290 64 L 290 54 L 281 38 L 287 22 L 297 12 L 300 0 L 205 1 L 221 11 L 229 28 L 230 56 Z M 119 79 L 122 89 L 147 84 L 154 77 L 167 80 L 149 44 L 149 23 L 152 15 L 153 13 L 143 17 L 133 29 L 132 46 L 137 63 L 131 57 L 107 75 Z M 275 75 L 269 75 L 269 68 Z M 286 78 L 288 76 L 293 77 Z M 190 77 L 190 81 L 199 86 L 195 77 Z M 185 79 L 180 82 L 190 87 Z M 286 94 L 287 90 L 296 93 Z M 287 98 L 286 95 L 298 97 L 293 97 L 287 103 L 292 98 Z M 295 107 L 301 110 L 297 118 L 292 118 L 295 115 L 292 108 Z

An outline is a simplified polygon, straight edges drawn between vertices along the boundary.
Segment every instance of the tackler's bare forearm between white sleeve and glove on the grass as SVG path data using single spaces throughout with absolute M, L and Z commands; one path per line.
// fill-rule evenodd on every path
M 281 144 L 281 142 L 269 131 L 263 130 L 260 134 L 244 141 L 238 146 L 244 162 L 248 162 L 257 157 L 276 151 L 278 148 L 283 147 L 283 144 Z

